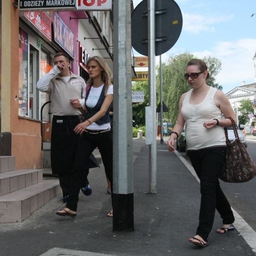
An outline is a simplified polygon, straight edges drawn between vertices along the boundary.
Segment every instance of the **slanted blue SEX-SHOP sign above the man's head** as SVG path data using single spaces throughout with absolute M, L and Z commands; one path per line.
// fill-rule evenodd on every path
M 53 13 L 53 31 L 54 41 L 74 58 L 74 35 L 55 12 Z

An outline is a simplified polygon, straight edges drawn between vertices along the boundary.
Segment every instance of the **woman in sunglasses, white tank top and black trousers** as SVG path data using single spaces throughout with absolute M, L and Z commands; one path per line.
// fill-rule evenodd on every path
M 209 245 L 208 236 L 212 230 L 215 209 L 222 218 L 222 225 L 216 230 L 224 234 L 234 230 L 235 221 L 230 204 L 221 190 L 218 174 L 226 156 L 226 138 L 223 127 L 231 126 L 235 113 L 225 94 L 206 84 L 209 78 L 207 65 L 199 59 L 192 59 L 186 66 L 185 79 L 191 90 L 179 101 L 177 123 L 170 134 L 168 150 L 174 151 L 174 143 L 186 122 L 186 143 L 190 161 L 200 179 L 201 206 L 199 225 L 195 236 L 189 239 L 195 245 Z

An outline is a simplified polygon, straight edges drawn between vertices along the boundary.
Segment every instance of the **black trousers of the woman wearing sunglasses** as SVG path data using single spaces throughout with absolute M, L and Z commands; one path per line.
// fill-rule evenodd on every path
M 225 147 L 189 151 L 189 158 L 200 179 L 201 187 L 199 225 L 196 234 L 205 241 L 212 230 L 215 208 L 221 215 L 223 224 L 231 224 L 235 221 L 230 204 L 218 180 L 225 156 Z

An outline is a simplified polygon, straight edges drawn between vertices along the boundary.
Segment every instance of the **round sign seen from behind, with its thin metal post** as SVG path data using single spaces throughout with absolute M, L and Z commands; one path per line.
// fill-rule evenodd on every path
M 173 47 L 182 29 L 182 15 L 173 0 L 143 0 L 131 15 L 131 44 L 148 62 L 148 107 L 146 110 L 146 145 L 149 145 L 149 193 L 156 194 L 156 89 L 155 56 Z M 161 100 L 162 103 L 162 100 Z M 161 111 L 162 112 L 162 111 Z

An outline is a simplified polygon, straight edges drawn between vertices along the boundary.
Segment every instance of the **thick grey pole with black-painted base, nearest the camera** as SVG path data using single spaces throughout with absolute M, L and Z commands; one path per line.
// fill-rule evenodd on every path
M 113 231 L 134 230 L 131 3 L 113 1 Z

